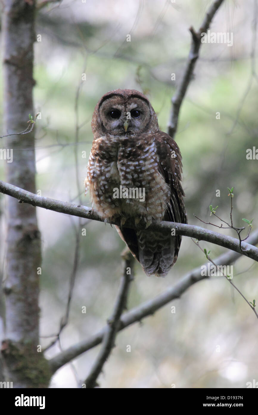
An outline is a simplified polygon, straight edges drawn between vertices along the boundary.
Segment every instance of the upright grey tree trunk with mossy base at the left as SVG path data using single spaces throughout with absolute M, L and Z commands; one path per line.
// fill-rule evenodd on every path
M 2 56 L 5 134 L 27 127 L 34 114 L 32 90 L 34 0 L 4 0 Z M 6 162 L 6 181 L 35 193 L 34 131 L 5 139 L 13 151 Z M 11 152 L 9 153 L 11 154 Z M 5 340 L 2 356 L 5 381 L 14 388 L 47 387 L 48 364 L 39 345 L 39 275 L 41 241 L 36 208 L 6 198 Z

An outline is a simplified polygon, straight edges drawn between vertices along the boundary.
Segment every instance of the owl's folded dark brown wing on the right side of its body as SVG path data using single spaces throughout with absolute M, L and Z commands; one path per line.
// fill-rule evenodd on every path
M 164 220 L 171 222 L 187 223 L 186 209 L 183 201 L 182 180 L 182 157 L 176 142 L 165 132 L 159 131 L 155 134 L 155 144 L 159 156 L 158 168 L 169 185 L 171 195 L 166 207 Z M 175 236 L 175 252 L 173 265 L 176 262 L 182 237 Z

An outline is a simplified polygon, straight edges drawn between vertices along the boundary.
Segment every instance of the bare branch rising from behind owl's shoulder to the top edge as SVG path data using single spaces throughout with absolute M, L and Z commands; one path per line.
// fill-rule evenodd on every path
M 193 27 L 190 27 L 189 31 L 192 34 L 192 43 L 190 47 L 190 52 L 188 55 L 188 61 L 186 64 L 185 71 L 183 73 L 182 80 L 176 90 L 175 95 L 172 98 L 172 107 L 171 107 L 171 114 L 169 117 L 169 125 L 168 125 L 168 134 L 170 137 L 174 138 L 177 130 L 177 123 L 178 123 L 178 116 L 180 107 L 183 101 L 184 96 L 186 95 L 186 90 L 188 85 L 193 78 L 193 70 L 195 68 L 195 63 L 199 57 L 199 49 L 201 46 L 201 34 L 206 33 L 210 27 L 210 23 L 217 12 L 219 6 L 222 4 L 223 0 L 216 0 L 212 3 L 209 10 L 206 13 L 205 19 L 203 20 L 200 29 L 198 32 L 195 32 Z

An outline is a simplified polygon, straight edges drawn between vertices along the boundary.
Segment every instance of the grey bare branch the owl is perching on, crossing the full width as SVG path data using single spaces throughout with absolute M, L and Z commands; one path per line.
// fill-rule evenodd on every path
M 0 180 L 0 193 L 5 193 L 13 198 L 19 199 L 19 203 L 29 203 L 33 206 L 43 207 L 44 209 L 53 210 L 55 212 L 65 213 L 67 215 L 84 217 L 87 219 L 98 220 L 103 222 L 103 219 L 87 206 L 75 205 L 74 203 L 62 202 L 60 200 L 43 198 L 41 196 L 30 193 L 27 190 L 23 190 L 17 186 L 13 186 L 10 183 L 5 183 Z M 113 225 L 120 226 L 120 220 L 112 221 Z M 125 227 L 135 229 L 133 221 L 127 221 Z M 145 224 L 139 222 L 137 229 L 145 229 Z M 248 256 L 255 261 L 258 261 L 258 248 L 254 247 L 247 242 L 241 244 L 239 247 L 239 240 L 227 235 L 223 235 L 218 232 L 210 231 L 195 225 L 185 225 L 183 223 L 176 222 L 152 222 L 152 225 L 148 227 L 148 230 L 164 230 L 164 232 L 171 232 L 171 229 L 175 229 L 176 234 L 188 236 L 198 239 L 199 241 L 211 242 L 212 244 L 219 245 L 224 248 L 236 251 L 239 254 Z

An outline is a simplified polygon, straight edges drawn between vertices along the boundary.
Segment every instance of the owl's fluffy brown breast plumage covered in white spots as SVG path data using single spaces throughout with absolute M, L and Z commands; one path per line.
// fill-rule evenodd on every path
M 162 220 L 170 191 L 158 170 L 154 142 L 110 140 L 92 146 L 88 164 L 89 191 L 94 209 L 102 217 L 145 217 Z M 121 187 L 129 197 L 121 197 Z M 140 197 L 139 197 L 140 196 Z

